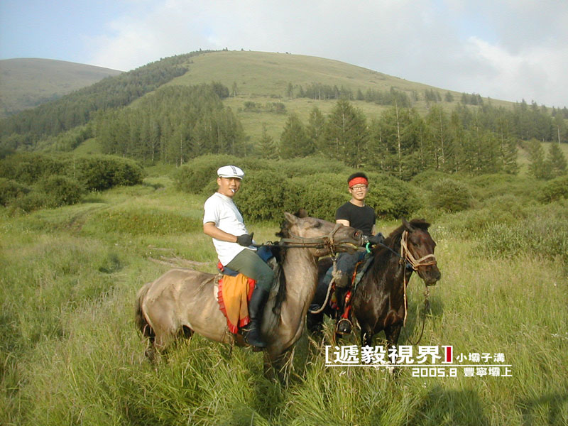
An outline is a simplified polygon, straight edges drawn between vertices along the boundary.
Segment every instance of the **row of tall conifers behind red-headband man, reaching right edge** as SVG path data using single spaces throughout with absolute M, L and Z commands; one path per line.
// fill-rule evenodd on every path
M 546 140 L 545 134 L 551 137 L 555 127 L 562 134 L 562 141 L 566 141 L 567 129 L 562 119 L 543 120 L 539 111 L 522 105 L 513 111 L 461 104 L 445 111 L 434 105 L 425 116 L 420 116 L 415 109 L 395 103 L 368 121 L 360 109 L 340 99 L 328 116 L 314 107 L 307 124 L 297 114 L 288 116 L 279 143 L 263 131 L 260 152 L 263 157 L 273 158 L 273 146 L 278 147 L 281 158 L 320 153 L 354 168 L 373 168 L 405 180 L 425 170 L 515 174 L 518 141 L 523 140 L 520 136 L 525 140 Z M 535 138 L 533 132 L 539 129 L 548 129 L 548 133 L 536 133 L 539 138 Z M 553 151 L 548 163 L 542 163 L 542 167 L 558 165 L 547 175 L 550 178 L 566 173 L 559 159 L 563 158 L 562 151 Z

